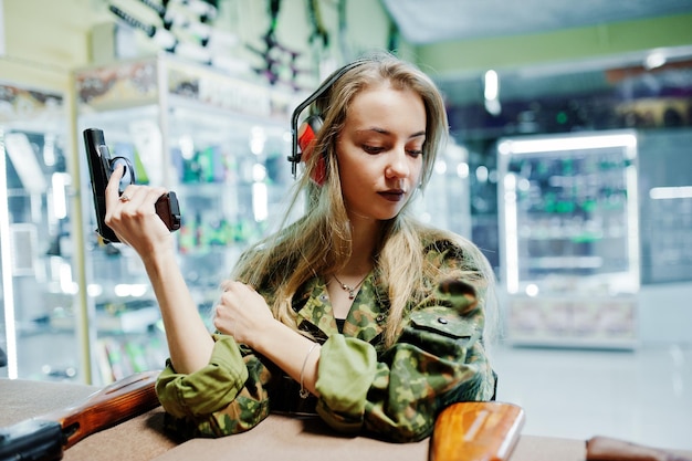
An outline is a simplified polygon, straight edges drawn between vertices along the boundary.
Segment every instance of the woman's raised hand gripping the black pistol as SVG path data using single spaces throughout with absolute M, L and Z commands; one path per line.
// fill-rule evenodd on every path
M 156 201 L 166 193 L 162 187 L 129 185 L 118 193 L 124 166 L 118 166 L 106 187 L 106 217 L 108 226 L 120 242 L 132 247 L 141 258 L 161 249 L 174 250 L 174 239 L 156 213 Z

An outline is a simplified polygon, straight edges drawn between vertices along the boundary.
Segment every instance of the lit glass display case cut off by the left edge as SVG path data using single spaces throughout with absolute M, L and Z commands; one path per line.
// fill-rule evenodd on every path
M 0 82 L 0 376 L 72 379 L 78 346 L 67 111 L 62 94 Z M 61 328 L 52 318 L 70 318 Z

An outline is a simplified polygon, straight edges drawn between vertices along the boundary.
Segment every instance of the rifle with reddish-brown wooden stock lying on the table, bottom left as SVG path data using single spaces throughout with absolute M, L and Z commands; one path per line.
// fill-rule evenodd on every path
M 130 375 L 74 407 L 0 428 L 0 461 L 59 460 L 63 450 L 85 437 L 156 408 L 160 405 L 155 390 L 159 373 Z

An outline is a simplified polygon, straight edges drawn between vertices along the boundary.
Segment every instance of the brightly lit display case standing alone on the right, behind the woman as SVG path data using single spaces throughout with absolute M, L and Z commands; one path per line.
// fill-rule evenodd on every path
M 629 130 L 499 140 L 512 344 L 635 347 L 637 154 Z

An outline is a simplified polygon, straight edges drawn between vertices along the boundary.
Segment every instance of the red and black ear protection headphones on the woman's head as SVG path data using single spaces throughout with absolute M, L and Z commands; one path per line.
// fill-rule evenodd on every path
M 350 71 L 354 67 L 361 65 L 365 62 L 369 62 L 369 60 L 357 60 L 349 64 L 346 64 L 342 69 L 336 70 L 327 80 L 324 81 L 322 85 L 311 94 L 305 101 L 303 101 L 293 111 L 293 115 L 291 116 L 291 134 L 293 137 L 292 145 L 292 155 L 289 156 L 289 161 L 291 161 L 291 172 L 295 178 L 297 171 L 297 165 L 301 161 L 307 161 L 313 154 L 313 149 L 315 147 L 315 139 L 317 138 L 317 133 L 322 128 L 324 121 L 321 114 L 313 114 L 308 116 L 305 122 L 301 124 L 298 127 L 298 118 L 303 111 L 311 104 L 313 104 L 319 96 L 325 94 L 337 80 L 342 77 L 346 72 Z M 300 150 L 298 150 L 300 149 Z M 327 165 L 324 157 L 319 158 L 317 167 L 311 176 L 311 179 L 322 186 L 324 180 L 327 177 Z

